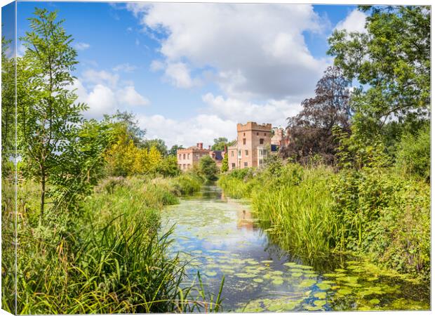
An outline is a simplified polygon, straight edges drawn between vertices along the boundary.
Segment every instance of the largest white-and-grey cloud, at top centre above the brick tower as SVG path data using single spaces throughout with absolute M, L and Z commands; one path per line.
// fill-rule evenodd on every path
M 127 8 L 145 31 L 167 34 L 160 53 L 175 86 L 189 88 L 190 70 L 212 67 L 228 96 L 307 96 L 330 62 L 314 58 L 304 43 L 302 32 L 323 32 L 325 24 L 309 5 L 130 3 Z

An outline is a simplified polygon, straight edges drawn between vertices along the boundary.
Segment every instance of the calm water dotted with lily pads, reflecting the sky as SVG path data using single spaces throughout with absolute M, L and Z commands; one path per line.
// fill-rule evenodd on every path
M 199 271 L 217 293 L 225 275 L 225 311 L 429 309 L 427 287 L 369 263 L 290 258 L 257 228 L 248 204 L 215 186 L 165 209 L 162 230 L 172 225 L 171 252 L 189 261 L 189 279 Z

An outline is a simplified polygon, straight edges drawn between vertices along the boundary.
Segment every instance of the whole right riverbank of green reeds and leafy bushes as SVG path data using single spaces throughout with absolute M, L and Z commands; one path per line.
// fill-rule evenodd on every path
M 295 256 L 347 253 L 429 279 L 430 186 L 423 181 L 391 169 L 274 164 L 235 170 L 218 183 L 226 195 L 250 199 L 260 226 Z

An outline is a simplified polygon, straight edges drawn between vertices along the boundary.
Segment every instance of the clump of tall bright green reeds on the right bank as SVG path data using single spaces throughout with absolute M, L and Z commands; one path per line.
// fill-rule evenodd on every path
M 331 209 L 329 177 L 325 169 L 312 169 L 299 185 L 268 187 L 253 194 L 257 218 L 292 254 L 313 258 L 335 247 L 340 229 Z

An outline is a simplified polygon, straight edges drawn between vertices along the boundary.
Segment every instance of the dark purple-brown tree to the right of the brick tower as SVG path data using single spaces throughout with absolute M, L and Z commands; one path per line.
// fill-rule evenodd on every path
M 328 67 L 316 85 L 316 96 L 302 101 L 302 111 L 288 118 L 290 144 L 282 150 L 285 157 L 307 164 L 314 155 L 334 162 L 337 142 L 333 127 L 349 129 L 349 81 L 337 67 Z

